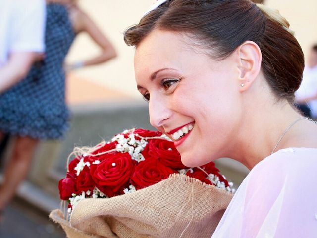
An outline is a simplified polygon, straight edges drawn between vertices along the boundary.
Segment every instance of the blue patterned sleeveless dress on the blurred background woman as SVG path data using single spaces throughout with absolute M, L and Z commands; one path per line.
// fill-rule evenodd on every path
M 45 60 L 0 94 L 0 131 L 38 139 L 58 139 L 68 129 L 63 62 L 75 38 L 68 10 L 47 5 Z

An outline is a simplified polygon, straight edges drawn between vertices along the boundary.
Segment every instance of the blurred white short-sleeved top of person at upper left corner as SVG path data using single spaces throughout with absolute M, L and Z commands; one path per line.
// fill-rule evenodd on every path
M 0 0 L 0 66 L 11 52 L 43 52 L 45 0 Z

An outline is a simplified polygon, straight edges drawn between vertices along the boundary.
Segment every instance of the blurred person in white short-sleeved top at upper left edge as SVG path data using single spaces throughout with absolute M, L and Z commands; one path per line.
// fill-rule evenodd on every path
M 45 14 L 45 0 L 0 0 L 0 95 L 22 80 L 43 56 Z M 7 139 L 0 132 L 0 152 Z M 0 208 L 0 221 L 1 216 Z

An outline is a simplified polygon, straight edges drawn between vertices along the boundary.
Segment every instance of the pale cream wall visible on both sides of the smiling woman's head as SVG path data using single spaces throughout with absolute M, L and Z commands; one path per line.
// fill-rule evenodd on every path
M 78 70 L 75 75 L 139 99 L 134 82 L 134 50 L 124 44 L 122 32 L 137 23 L 152 2 L 154 0 L 80 0 L 82 8 L 116 47 L 118 58 L 101 66 Z M 289 20 L 304 53 L 307 53 L 311 44 L 317 42 L 317 0 L 265 0 L 265 4 L 279 9 Z M 80 34 L 67 60 L 82 60 L 96 53 L 98 47 L 87 35 Z

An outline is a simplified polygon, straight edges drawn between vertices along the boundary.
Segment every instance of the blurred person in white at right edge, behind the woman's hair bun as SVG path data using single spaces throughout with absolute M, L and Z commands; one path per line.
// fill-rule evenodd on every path
M 317 119 L 317 44 L 309 53 L 302 84 L 296 91 L 296 103 L 306 117 Z

